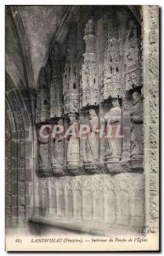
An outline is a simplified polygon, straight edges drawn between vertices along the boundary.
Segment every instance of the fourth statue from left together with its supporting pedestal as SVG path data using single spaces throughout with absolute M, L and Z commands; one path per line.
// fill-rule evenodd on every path
M 93 108 L 89 109 L 89 122 L 91 133 L 88 134 L 86 140 L 86 150 L 84 156 L 85 168 L 88 172 L 99 172 L 99 135 L 93 133 L 93 129 L 99 128 L 99 117 Z

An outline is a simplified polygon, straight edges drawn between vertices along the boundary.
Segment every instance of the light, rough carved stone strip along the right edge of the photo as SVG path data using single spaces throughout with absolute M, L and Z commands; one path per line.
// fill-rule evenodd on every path
M 145 124 L 145 130 L 148 128 L 150 150 L 148 160 L 150 166 L 150 231 L 156 232 L 159 226 L 159 7 L 146 6 L 144 12 L 148 14 L 148 79 L 144 85 L 144 97 L 149 99 L 149 108 L 146 113 L 149 115 L 149 123 Z M 145 19 L 145 18 L 144 18 Z M 145 22 L 145 20 L 144 20 Z M 149 127 L 147 127 L 149 125 Z

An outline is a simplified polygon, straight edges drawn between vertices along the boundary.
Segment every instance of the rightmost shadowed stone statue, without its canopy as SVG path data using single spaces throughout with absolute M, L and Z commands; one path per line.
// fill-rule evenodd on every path
M 133 109 L 131 115 L 131 158 L 142 159 L 144 154 L 143 144 L 143 102 L 139 91 L 133 91 Z

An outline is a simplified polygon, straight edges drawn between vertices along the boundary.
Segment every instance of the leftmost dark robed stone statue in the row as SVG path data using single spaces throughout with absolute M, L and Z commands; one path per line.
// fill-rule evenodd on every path
M 49 149 L 50 149 L 48 130 L 47 129 L 43 130 L 43 135 L 45 137 L 42 137 L 42 132 L 38 133 L 39 167 L 40 167 L 41 171 L 47 171 L 48 166 L 49 166 Z

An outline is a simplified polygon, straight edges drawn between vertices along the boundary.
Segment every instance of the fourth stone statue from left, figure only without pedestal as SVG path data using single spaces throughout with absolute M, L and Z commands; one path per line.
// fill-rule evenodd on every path
M 94 128 L 99 128 L 99 117 L 97 116 L 95 110 L 89 109 L 89 124 L 91 132 Z M 88 139 L 86 141 L 86 155 L 84 157 L 84 161 L 86 163 L 93 163 L 99 161 L 99 135 L 94 135 L 94 137 L 90 137 L 88 135 Z

